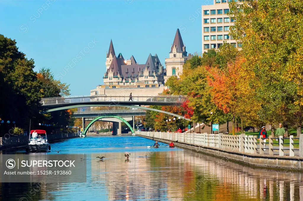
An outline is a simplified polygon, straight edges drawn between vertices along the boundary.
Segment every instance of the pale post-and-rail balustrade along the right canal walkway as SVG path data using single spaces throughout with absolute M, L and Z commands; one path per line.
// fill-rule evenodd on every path
M 136 134 L 151 138 L 158 138 L 168 141 L 177 141 L 180 143 L 215 147 L 223 150 L 238 151 L 249 154 L 268 154 L 279 156 L 299 156 L 303 157 L 303 136 L 294 138 L 259 138 L 255 135 L 223 135 L 207 133 L 171 133 L 171 132 L 153 132 L 136 131 Z

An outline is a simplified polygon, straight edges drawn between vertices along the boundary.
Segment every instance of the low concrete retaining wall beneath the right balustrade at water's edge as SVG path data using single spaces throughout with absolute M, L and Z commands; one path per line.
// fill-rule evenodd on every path
M 171 141 L 163 138 L 149 137 L 147 136 L 149 135 L 147 134 L 147 132 L 142 132 L 142 131 L 137 131 L 136 135 L 164 143 L 170 143 Z M 185 143 L 178 141 L 174 143 L 177 147 L 180 148 L 185 148 L 200 153 L 211 154 L 213 156 L 222 157 L 225 158 L 226 160 L 232 160 L 250 166 L 292 169 L 299 171 L 303 170 L 303 157 L 250 154 L 236 150 L 231 151 L 226 148 L 209 147 L 209 146 L 197 145 L 188 142 Z

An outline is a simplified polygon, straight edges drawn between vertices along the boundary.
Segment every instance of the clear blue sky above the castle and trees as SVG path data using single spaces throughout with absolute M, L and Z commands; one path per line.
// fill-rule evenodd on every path
M 201 52 L 201 5 L 210 0 L 3 1 L 0 34 L 15 39 L 35 61 L 70 84 L 72 96 L 103 84 L 106 52 L 145 63 L 169 57 L 177 28 L 188 53 Z

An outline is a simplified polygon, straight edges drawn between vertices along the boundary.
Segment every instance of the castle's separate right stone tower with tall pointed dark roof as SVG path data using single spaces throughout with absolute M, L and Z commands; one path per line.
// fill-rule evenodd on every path
M 180 31 L 179 29 L 177 29 L 174 42 L 171 45 L 171 51 L 169 52 L 169 58 L 165 59 L 165 82 L 171 76 L 177 76 L 178 78 L 180 78 L 180 75 L 183 72 L 183 64 L 191 57 L 193 57 L 193 55 L 191 55 L 190 53 L 187 56 L 186 47 L 183 44 Z

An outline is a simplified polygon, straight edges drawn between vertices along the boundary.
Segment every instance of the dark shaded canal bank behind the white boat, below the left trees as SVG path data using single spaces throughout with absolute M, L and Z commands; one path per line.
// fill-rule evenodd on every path
M 47 135 L 49 142 L 55 142 L 67 138 L 77 138 L 78 133 L 62 133 Z M 28 144 L 28 136 L 8 136 L 0 138 L 0 150 L 20 148 L 23 149 Z

